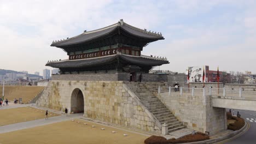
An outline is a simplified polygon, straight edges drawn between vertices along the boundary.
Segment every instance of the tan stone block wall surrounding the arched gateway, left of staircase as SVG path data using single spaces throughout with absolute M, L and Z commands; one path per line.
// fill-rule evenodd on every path
M 74 91 L 82 91 L 84 117 L 126 127 L 161 133 L 161 125 L 130 91 L 123 81 L 53 80 L 36 104 L 49 109 L 71 111 L 81 105 L 73 103 Z

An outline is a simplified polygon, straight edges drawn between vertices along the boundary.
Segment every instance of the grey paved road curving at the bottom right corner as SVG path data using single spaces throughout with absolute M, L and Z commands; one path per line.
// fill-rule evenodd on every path
M 256 143 L 256 111 L 235 110 L 235 115 L 239 111 L 241 117 L 249 123 L 249 129 L 245 134 L 225 144 L 255 144 Z

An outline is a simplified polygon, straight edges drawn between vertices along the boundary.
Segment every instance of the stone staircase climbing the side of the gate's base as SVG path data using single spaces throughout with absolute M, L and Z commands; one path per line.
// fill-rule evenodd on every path
M 153 93 L 157 91 L 158 85 L 164 85 L 163 83 L 155 83 L 154 87 L 151 88 L 146 83 L 131 83 L 131 85 L 136 85 L 132 86 L 131 89 L 141 100 L 142 104 L 148 108 L 161 124 L 166 123 L 168 125 L 169 133 L 185 128 L 183 123 L 179 122 L 165 104 Z

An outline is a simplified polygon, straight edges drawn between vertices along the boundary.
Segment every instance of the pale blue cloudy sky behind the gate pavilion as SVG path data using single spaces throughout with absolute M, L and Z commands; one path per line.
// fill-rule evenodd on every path
M 178 71 L 195 65 L 210 70 L 256 73 L 256 1 L 12 1 L 0 0 L 0 69 L 33 74 L 49 60 L 67 59 L 53 40 L 106 27 L 120 19 L 161 32 L 165 40 L 142 55 L 164 56 Z

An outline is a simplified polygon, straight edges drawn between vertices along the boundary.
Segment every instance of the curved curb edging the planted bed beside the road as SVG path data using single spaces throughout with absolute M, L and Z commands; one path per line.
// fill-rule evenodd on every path
M 240 129 L 240 130 L 236 130 L 233 131 L 232 133 L 222 136 L 222 137 L 218 137 L 217 139 L 212 139 L 212 140 L 206 140 L 206 141 L 197 141 L 197 142 L 188 142 L 188 143 L 183 143 L 183 144 L 203 144 L 203 143 L 216 143 L 216 142 L 220 142 L 220 141 L 224 141 L 227 139 L 230 139 L 234 136 L 237 136 L 239 134 L 243 134 L 245 131 L 247 131 L 248 128 L 248 123 L 245 121 L 245 125 Z

